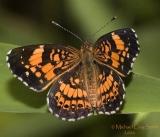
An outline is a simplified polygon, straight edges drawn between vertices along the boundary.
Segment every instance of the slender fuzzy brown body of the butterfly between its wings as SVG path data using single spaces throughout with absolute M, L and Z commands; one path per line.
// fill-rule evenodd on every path
M 96 107 L 98 95 L 96 92 L 97 80 L 92 47 L 93 44 L 88 42 L 84 43 L 81 49 L 81 59 L 83 64 L 83 79 L 88 99 L 92 107 Z

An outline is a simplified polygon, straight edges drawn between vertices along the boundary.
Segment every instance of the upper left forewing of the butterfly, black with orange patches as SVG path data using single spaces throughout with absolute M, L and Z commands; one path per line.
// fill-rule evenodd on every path
M 8 52 L 7 64 L 25 85 L 35 91 L 43 91 L 78 62 L 77 51 L 53 44 L 18 47 Z

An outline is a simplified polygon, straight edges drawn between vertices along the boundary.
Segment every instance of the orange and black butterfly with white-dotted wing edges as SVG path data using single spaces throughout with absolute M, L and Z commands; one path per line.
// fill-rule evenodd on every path
M 62 120 L 75 121 L 93 114 L 118 112 L 125 98 L 122 78 L 129 75 L 140 51 L 132 28 L 112 31 L 80 49 L 68 45 L 39 44 L 7 53 L 12 74 L 36 92 L 51 86 L 49 111 Z

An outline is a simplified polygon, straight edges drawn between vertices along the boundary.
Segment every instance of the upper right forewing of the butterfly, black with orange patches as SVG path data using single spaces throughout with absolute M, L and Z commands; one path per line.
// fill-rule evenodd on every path
M 123 77 L 130 73 L 138 53 L 138 38 L 131 28 L 110 32 L 95 43 L 95 58 Z

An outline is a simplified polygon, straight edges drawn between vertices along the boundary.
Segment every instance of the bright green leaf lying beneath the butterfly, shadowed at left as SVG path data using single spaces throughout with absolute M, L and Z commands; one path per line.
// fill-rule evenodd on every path
M 35 93 L 13 78 L 6 65 L 6 53 L 17 45 L 0 43 L 0 112 L 46 113 L 46 94 Z M 126 99 L 122 113 L 160 111 L 160 79 L 133 74 L 126 80 Z

